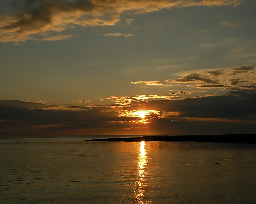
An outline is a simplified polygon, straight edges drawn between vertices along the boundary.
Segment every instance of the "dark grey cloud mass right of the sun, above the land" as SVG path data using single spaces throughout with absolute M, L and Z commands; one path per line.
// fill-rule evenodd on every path
M 256 90 L 226 92 L 225 95 L 176 100 L 133 102 L 126 110 L 179 112 L 179 117 L 249 119 L 256 114 Z M 255 120 L 255 118 L 254 118 Z

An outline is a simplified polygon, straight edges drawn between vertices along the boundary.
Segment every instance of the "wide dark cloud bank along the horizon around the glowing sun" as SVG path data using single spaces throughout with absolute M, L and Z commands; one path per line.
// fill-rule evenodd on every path
M 192 92 L 197 91 L 174 94 Z M 164 97 L 115 96 L 108 99 L 116 100 L 116 104 L 65 109 L 59 105 L 0 100 L 0 135 L 255 133 L 256 87 L 228 90 L 221 95 L 171 100 Z M 144 121 L 138 119 L 141 110 L 146 112 Z

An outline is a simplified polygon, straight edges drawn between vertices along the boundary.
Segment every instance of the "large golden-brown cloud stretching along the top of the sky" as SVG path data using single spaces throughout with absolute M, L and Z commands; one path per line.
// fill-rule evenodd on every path
M 0 42 L 40 40 L 34 35 L 61 32 L 74 25 L 113 26 L 120 21 L 120 14 L 124 12 L 147 13 L 164 8 L 189 6 L 236 6 L 242 0 L 23 0 L 13 2 L 15 2 L 13 5 L 15 5 L 16 14 L 0 16 Z M 131 19 L 127 22 L 131 22 Z M 65 39 L 67 38 L 66 36 Z M 59 40 L 58 37 L 48 39 Z

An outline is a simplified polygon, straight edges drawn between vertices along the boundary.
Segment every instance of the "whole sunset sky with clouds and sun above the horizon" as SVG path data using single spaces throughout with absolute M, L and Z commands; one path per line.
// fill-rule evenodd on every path
M 1 0 L 0 136 L 255 134 L 255 8 Z

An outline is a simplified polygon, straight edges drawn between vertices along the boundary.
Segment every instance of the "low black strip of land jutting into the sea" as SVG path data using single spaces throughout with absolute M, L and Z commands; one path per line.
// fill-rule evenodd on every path
M 230 142 L 230 143 L 256 143 L 253 138 L 256 134 L 221 134 L 221 135 L 149 135 L 129 138 L 91 139 L 86 141 L 106 142 L 140 142 L 140 141 L 166 141 L 166 142 Z

